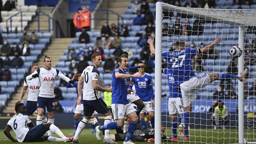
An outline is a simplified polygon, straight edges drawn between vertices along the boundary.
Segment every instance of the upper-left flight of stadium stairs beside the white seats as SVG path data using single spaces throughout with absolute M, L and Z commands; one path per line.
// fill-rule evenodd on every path
M 40 8 L 38 8 L 39 11 L 41 11 L 39 13 L 39 25 L 40 25 L 40 32 L 49 32 L 49 17 L 45 16 L 43 13 L 50 15 L 51 11 L 52 11 L 53 7 L 51 6 L 43 6 Z M 29 23 L 28 25 L 28 31 L 30 32 L 31 29 L 38 29 L 38 16 L 36 15 L 33 18 L 35 21 L 32 21 Z

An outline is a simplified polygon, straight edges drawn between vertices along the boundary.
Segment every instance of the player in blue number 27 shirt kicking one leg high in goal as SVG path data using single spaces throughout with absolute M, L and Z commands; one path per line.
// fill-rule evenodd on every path
M 184 102 L 184 113 L 179 125 L 179 135 L 181 139 L 189 140 L 188 133 L 184 133 L 184 129 L 188 128 L 189 113 L 192 110 L 192 103 L 195 100 L 196 89 L 204 88 L 207 84 L 215 80 L 227 81 L 231 79 L 239 79 L 243 81 L 248 69 L 239 75 L 232 74 L 203 74 L 196 76 L 192 69 L 191 59 L 196 54 L 206 53 L 215 44 L 220 43 L 221 39 L 217 38 L 210 45 L 201 49 L 186 48 L 184 41 L 176 41 L 174 44 L 174 52 L 162 52 L 162 57 L 167 60 L 169 67 L 172 69 L 172 75 L 181 90 L 181 95 Z M 150 51 L 155 54 L 154 39 L 148 39 Z M 186 131 L 185 131 L 186 132 Z

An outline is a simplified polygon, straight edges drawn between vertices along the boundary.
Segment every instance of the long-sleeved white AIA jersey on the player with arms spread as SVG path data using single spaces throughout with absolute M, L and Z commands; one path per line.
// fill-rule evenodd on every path
M 45 68 L 37 69 L 33 74 L 28 76 L 28 80 L 31 80 L 34 74 L 39 74 L 40 88 L 38 92 L 38 97 L 54 97 L 54 81 L 56 77 L 69 82 L 70 79 L 64 76 L 58 69 L 51 68 L 47 70 Z

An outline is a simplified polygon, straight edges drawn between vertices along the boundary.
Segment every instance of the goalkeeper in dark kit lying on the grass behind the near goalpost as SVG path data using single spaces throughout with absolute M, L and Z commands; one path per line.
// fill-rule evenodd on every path
M 165 126 L 161 124 L 161 139 L 163 141 L 172 141 L 170 137 L 165 136 L 163 133 L 165 131 Z M 124 141 L 125 133 L 117 133 L 117 134 L 110 134 L 110 138 L 113 141 Z M 144 130 L 141 126 L 137 126 L 136 130 L 134 131 L 131 140 L 132 141 L 140 141 L 140 142 L 155 142 L 155 130 Z

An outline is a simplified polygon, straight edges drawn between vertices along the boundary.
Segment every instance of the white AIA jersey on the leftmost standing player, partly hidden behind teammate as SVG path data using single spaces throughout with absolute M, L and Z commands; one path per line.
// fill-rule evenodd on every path
M 38 91 L 40 87 L 39 78 L 36 77 L 32 80 L 28 80 L 28 76 L 24 80 L 25 87 L 28 87 L 28 101 L 37 101 Z

